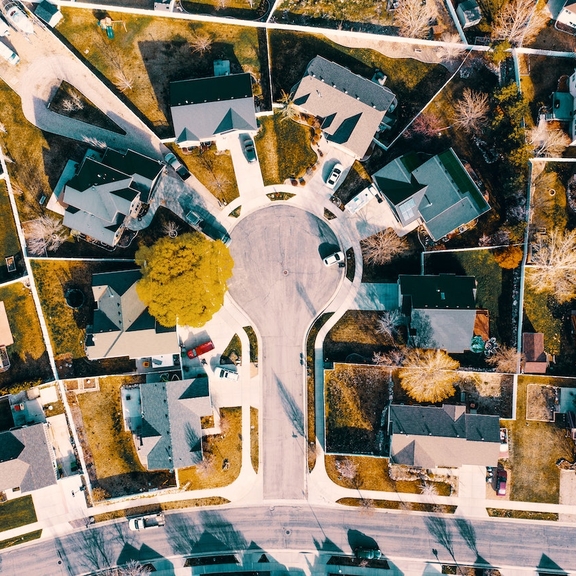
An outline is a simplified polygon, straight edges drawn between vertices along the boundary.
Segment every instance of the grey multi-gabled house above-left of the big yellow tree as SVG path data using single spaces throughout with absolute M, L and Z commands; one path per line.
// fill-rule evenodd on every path
M 115 246 L 128 218 L 150 202 L 162 170 L 161 162 L 133 150 L 125 154 L 111 148 L 104 154 L 89 150 L 74 175 L 66 182 L 61 178 L 54 190 L 64 207 L 64 225 Z M 63 174 L 71 171 L 67 165 Z

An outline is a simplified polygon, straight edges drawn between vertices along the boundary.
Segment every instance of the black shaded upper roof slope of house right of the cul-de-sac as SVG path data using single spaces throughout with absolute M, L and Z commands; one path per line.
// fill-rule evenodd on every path
M 476 308 L 476 278 L 439 274 L 398 277 L 400 294 L 411 297 L 413 309 L 474 309 Z

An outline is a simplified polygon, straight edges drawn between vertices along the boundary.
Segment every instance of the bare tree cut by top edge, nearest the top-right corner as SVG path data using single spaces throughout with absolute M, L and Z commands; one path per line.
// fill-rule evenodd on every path
M 511 0 L 498 12 L 492 25 L 492 40 L 508 40 L 520 46 L 533 40 L 548 17 L 534 0 Z

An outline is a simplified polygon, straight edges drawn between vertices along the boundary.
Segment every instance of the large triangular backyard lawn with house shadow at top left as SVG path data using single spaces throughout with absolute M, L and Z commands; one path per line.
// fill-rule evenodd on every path
M 214 59 L 230 60 L 231 71 L 252 72 L 260 79 L 259 42 L 255 28 L 213 23 L 167 20 L 161 17 L 109 13 L 116 26 L 108 40 L 97 26 L 102 12 L 64 8 L 58 33 L 87 59 L 110 87 L 141 116 L 161 138 L 174 136 L 169 111 L 169 84 L 175 80 L 212 76 Z M 209 35 L 211 47 L 193 52 L 195 35 Z M 133 81 L 131 90 L 114 87 L 119 73 Z M 257 88 L 256 88 L 257 91 Z

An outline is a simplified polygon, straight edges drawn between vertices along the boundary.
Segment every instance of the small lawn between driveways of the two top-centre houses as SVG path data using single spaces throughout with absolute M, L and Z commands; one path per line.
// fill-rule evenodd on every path
M 260 119 L 255 143 L 264 184 L 282 184 L 302 176 L 317 161 L 312 150 L 313 130 L 277 113 Z

